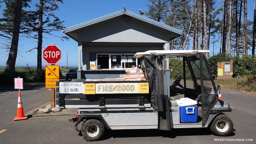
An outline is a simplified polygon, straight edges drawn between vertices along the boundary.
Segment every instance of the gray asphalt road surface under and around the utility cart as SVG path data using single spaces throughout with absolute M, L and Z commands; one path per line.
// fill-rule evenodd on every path
M 176 91 L 177 94 L 182 93 L 179 88 Z M 13 121 L 17 113 L 18 90 L 0 88 L 0 143 L 255 143 L 256 96 L 224 89 L 221 92 L 222 100 L 235 108 L 226 113 L 234 123 L 234 132 L 229 136 L 215 136 L 207 129 L 175 129 L 170 132 L 123 130 L 107 131 L 103 140 L 88 142 L 75 130 L 74 123 L 68 122 L 74 116 L 30 117 Z M 21 91 L 24 112 L 49 102 L 50 95 L 51 91 L 45 89 L 44 85 L 24 86 Z

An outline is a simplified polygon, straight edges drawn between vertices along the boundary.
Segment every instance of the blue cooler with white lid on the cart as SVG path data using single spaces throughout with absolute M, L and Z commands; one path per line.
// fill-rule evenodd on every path
M 198 114 L 197 101 L 189 98 L 181 98 L 176 102 L 180 106 L 181 123 L 196 123 Z

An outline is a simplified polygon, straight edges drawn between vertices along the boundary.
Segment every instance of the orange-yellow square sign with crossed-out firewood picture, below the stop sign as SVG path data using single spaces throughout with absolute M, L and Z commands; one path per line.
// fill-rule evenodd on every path
M 45 79 L 60 79 L 60 66 L 46 65 L 45 66 Z

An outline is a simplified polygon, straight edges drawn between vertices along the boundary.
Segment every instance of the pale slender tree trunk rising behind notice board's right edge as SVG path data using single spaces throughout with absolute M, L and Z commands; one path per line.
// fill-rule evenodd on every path
M 233 9 L 232 9 L 232 1 L 229 0 L 229 23 L 228 23 L 228 50 L 227 54 L 231 55 L 231 33 L 232 33 L 232 23 L 233 23 Z

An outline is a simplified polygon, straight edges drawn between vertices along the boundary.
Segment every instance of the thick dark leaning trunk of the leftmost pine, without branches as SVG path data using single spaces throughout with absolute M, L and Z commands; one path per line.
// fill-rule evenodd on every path
M 6 67 L 4 70 L 4 75 L 13 76 L 15 72 L 15 63 L 18 52 L 18 43 L 19 43 L 19 33 L 20 33 L 20 21 L 21 21 L 21 9 L 22 9 L 22 0 L 16 0 L 16 9 L 15 9 L 15 18 L 14 18 L 14 27 L 12 35 L 12 43 L 9 52 L 9 57 L 6 62 Z

